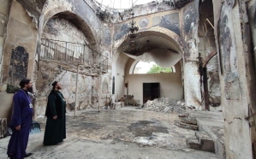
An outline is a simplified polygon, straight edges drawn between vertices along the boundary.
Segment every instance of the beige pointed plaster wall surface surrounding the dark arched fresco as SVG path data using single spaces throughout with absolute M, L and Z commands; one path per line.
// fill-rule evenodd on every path
M 12 78 L 9 77 L 9 63 L 12 50 L 15 50 L 17 46 L 24 47 L 28 53 L 27 78 L 32 79 L 37 28 L 33 19 L 27 15 L 27 11 L 17 1 L 13 1 L 11 4 L 7 27 L 7 37 L 3 48 L 2 82 L 8 84 L 9 78 Z

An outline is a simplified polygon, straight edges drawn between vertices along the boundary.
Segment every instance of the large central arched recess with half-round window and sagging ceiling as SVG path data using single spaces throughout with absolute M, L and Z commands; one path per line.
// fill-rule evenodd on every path
M 123 40 L 117 48 L 120 54 L 116 63 L 115 80 L 119 86 L 116 86 L 115 96 L 121 98 L 130 95 L 136 103 L 143 104 L 143 85 L 158 83 L 158 97 L 182 100 L 182 50 L 176 40 L 162 32 L 140 32 L 140 50 L 129 50 L 125 47 L 127 44 L 128 40 Z M 149 64 L 150 66 L 145 66 L 149 70 L 154 64 L 155 68 L 163 69 L 158 72 L 159 74 L 146 74 L 149 70 L 144 71 L 144 74 L 134 74 L 138 71 L 136 69 L 141 68 L 140 63 Z M 168 68 L 169 71 L 164 73 L 164 68 Z M 128 88 L 123 85 L 127 82 Z

